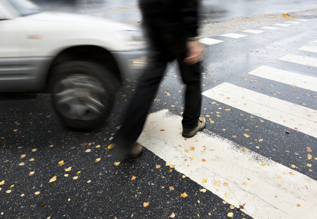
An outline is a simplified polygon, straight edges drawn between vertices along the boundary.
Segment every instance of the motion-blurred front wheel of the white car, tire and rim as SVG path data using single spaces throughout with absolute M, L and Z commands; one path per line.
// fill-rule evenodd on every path
M 91 61 L 68 61 L 52 70 L 51 98 L 66 126 L 91 130 L 111 113 L 118 81 L 104 66 Z

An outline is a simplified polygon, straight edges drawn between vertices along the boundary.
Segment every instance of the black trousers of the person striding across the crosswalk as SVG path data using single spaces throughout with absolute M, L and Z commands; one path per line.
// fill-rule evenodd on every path
M 154 33 L 155 34 L 155 33 Z M 188 65 L 183 62 L 186 57 L 186 39 L 170 33 L 152 37 L 149 63 L 144 74 L 139 78 L 135 95 L 128 106 L 124 123 L 116 134 L 114 141 L 125 148 L 131 147 L 143 130 L 147 112 L 155 97 L 168 61 L 177 59 L 182 80 L 186 85 L 183 128 L 197 126 L 201 110 L 200 63 Z

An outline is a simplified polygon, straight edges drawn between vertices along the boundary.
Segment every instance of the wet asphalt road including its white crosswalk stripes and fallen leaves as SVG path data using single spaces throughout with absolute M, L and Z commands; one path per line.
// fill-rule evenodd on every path
M 171 62 L 136 159 L 108 145 L 137 80 L 93 132 L 64 127 L 48 94 L 1 94 L 1 218 L 316 218 L 317 16 L 292 15 L 202 40 L 207 126 L 195 138 L 180 134 Z

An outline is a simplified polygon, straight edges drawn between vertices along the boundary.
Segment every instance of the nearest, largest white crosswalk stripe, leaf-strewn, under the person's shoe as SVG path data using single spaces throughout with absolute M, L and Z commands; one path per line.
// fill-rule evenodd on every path
M 239 145 L 206 130 L 185 140 L 180 134 L 181 120 L 168 110 L 150 114 L 145 124 L 148 131 L 142 132 L 138 142 L 228 203 L 236 207 L 246 203 L 242 211 L 255 219 L 299 219 L 317 215 L 316 181 L 254 151 L 244 152 Z M 265 166 L 260 166 L 261 163 Z M 163 173 L 167 175 L 168 172 Z M 203 183 L 203 179 L 207 182 Z M 215 181 L 220 181 L 220 186 L 215 185 Z M 176 192 L 180 195 L 186 189 L 179 188 Z M 225 193 L 230 196 L 226 197 Z

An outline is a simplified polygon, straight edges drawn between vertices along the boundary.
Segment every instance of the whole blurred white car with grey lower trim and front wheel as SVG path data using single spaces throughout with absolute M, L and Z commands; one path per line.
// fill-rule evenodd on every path
M 0 92 L 49 88 L 66 125 L 92 129 L 111 112 L 116 85 L 146 65 L 135 27 L 41 11 L 28 0 L 0 0 Z

